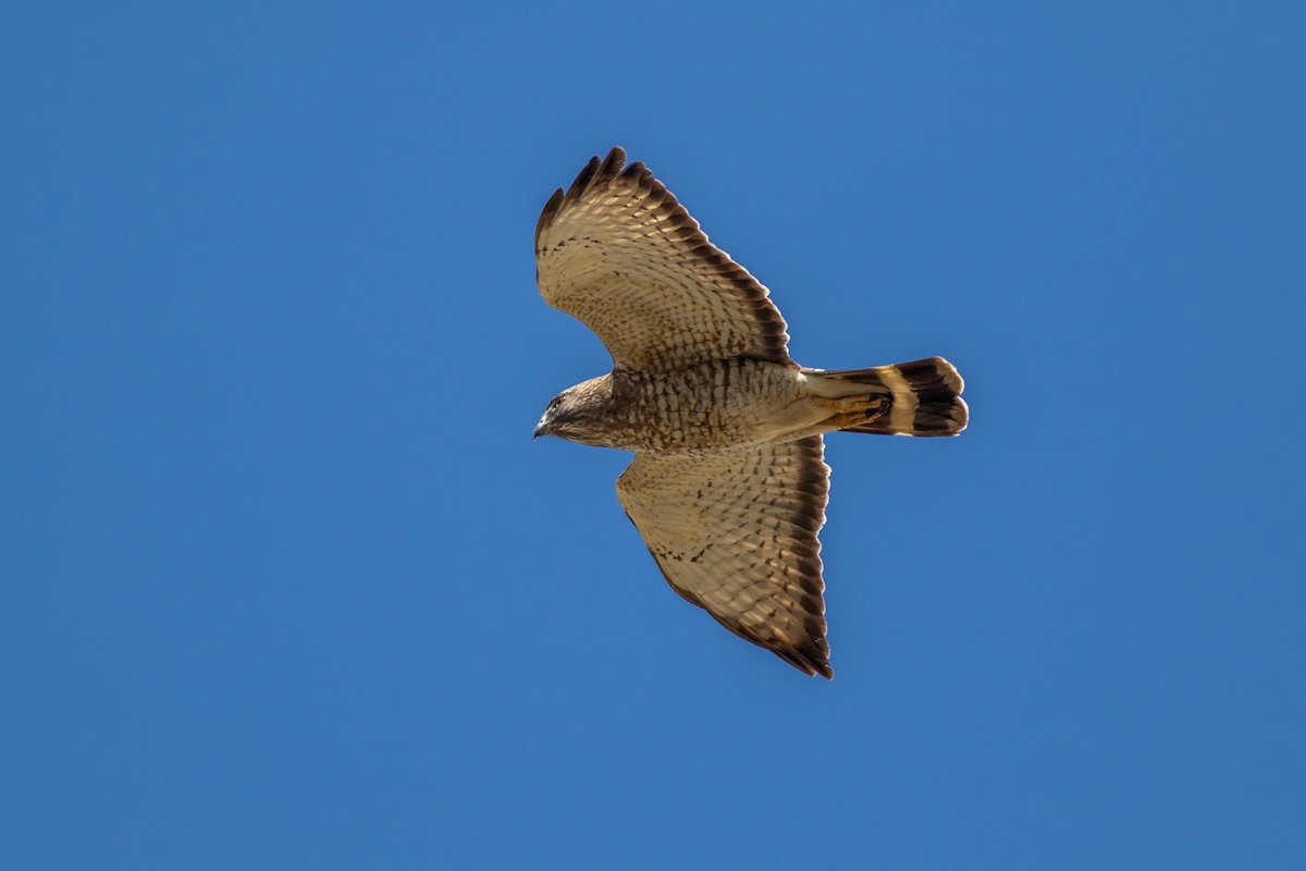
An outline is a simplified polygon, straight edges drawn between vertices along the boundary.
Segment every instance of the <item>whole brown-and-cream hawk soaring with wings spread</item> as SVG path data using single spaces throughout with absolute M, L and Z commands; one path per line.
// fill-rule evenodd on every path
M 832 678 L 820 542 L 821 435 L 951 436 L 961 376 L 940 356 L 825 372 L 789 358 L 767 289 L 614 148 L 535 227 L 545 302 L 613 371 L 556 396 L 535 436 L 633 451 L 616 498 L 671 588 L 735 635 Z

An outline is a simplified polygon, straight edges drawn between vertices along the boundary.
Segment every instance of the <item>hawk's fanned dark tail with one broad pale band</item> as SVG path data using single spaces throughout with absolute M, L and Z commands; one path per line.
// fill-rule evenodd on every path
M 855 396 L 853 385 L 870 388 L 876 407 L 867 419 L 840 427 L 845 432 L 878 432 L 883 435 L 942 436 L 957 435 L 966 428 L 966 404 L 961 400 L 965 387 L 952 363 L 931 356 L 897 366 L 845 372 L 806 375 L 821 384 L 821 392 Z M 887 406 L 887 407 L 885 407 Z

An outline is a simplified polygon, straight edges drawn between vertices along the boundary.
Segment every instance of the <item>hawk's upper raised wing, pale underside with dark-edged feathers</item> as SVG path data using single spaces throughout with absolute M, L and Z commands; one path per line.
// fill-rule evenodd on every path
M 643 163 L 592 158 L 535 227 L 545 302 L 579 319 L 616 366 L 670 371 L 705 359 L 790 363 L 785 320 L 763 287 L 708 242 Z

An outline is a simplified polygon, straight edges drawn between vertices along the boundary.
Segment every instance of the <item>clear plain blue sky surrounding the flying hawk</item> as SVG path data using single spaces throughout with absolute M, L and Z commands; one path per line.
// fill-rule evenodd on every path
M 0 867 L 1306 867 L 1301 4 L 8 4 Z M 836 678 L 661 578 L 534 287 L 626 146 L 835 435 Z

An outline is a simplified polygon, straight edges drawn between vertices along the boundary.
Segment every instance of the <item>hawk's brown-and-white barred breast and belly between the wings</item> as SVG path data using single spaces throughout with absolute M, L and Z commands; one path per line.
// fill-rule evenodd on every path
M 797 368 L 763 360 L 613 373 L 614 448 L 704 456 L 821 431 L 829 411 Z

